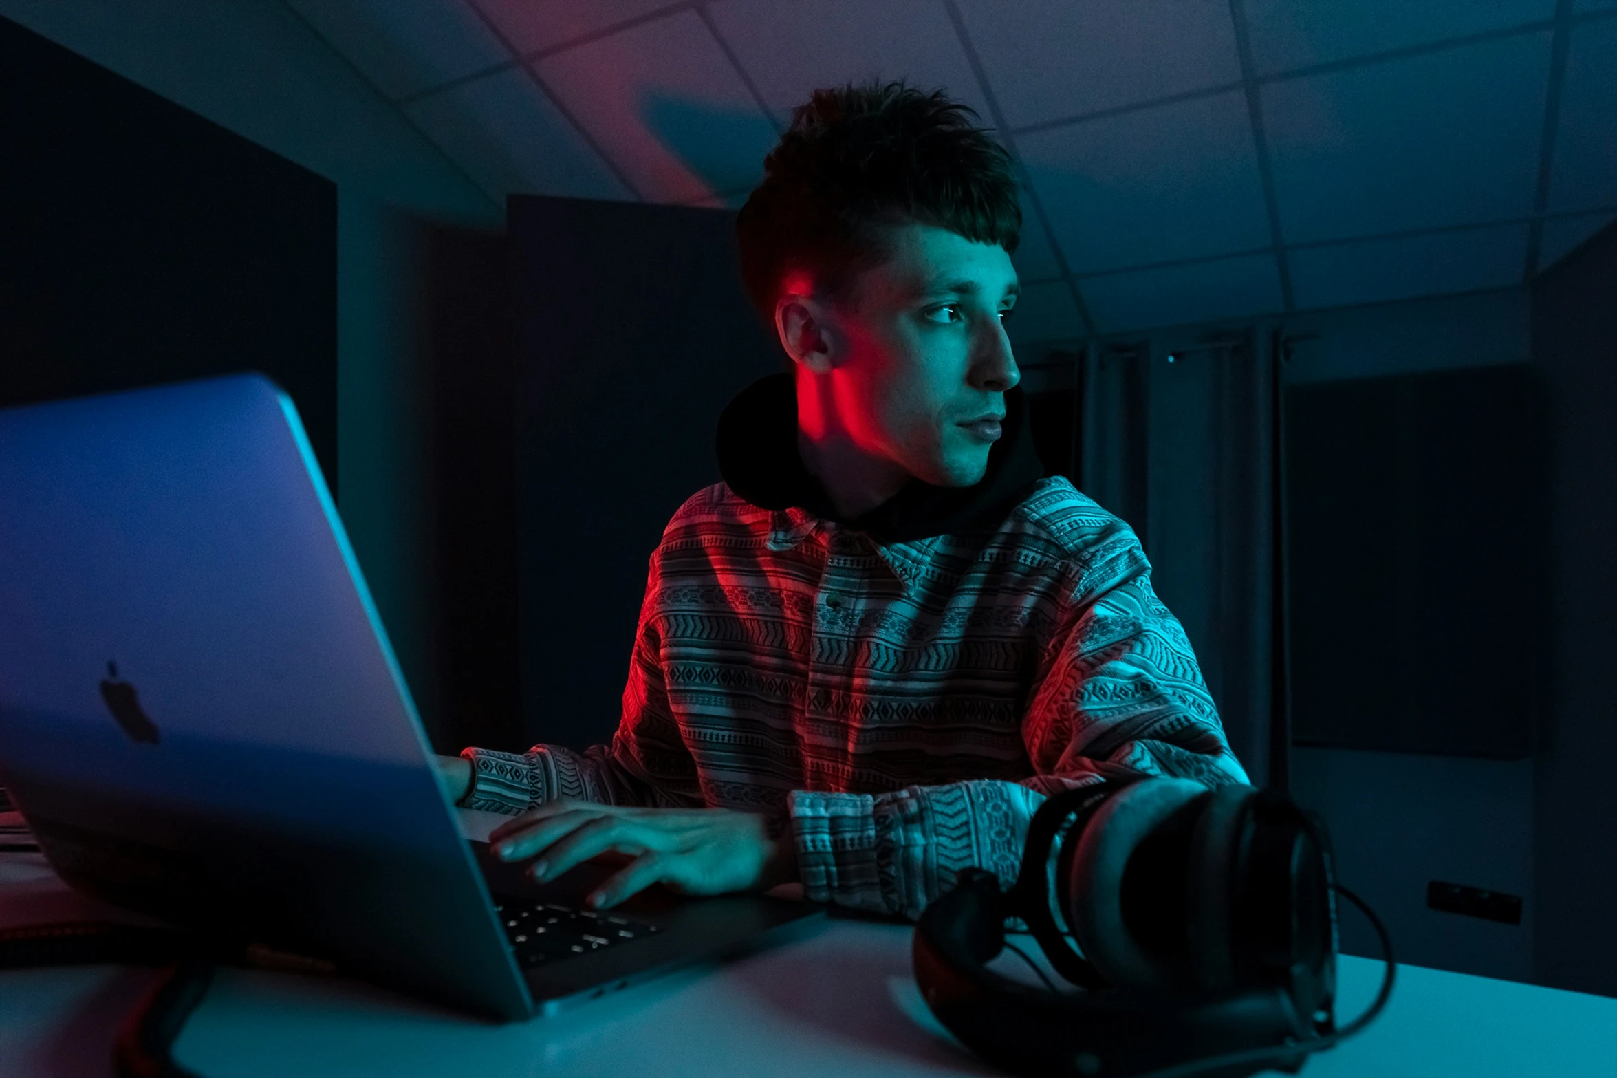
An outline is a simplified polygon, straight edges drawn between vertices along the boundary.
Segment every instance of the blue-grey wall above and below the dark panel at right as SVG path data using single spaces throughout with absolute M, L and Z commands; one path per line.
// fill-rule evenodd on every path
M 1284 330 L 1292 341 L 1282 368 L 1287 393 L 1328 381 L 1476 372 L 1531 356 L 1526 289 L 1303 312 L 1287 317 Z M 1397 491 L 1381 491 L 1374 501 L 1391 504 L 1389 495 Z M 1517 625 L 1517 635 L 1531 632 Z M 1365 658 L 1376 666 L 1402 663 L 1391 640 Z M 1528 674 L 1536 687 L 1538 677 Z M 1379 708 L 1366 724 L 1384 726 Z M 1329 821 L 1342 882 L 1376 908 L 1400 960 L 1535 979 L 1531 758 L 1324 745 L 1294 745 L 1290 755 L 1294 795 Z M 1426 903 L 1433 879 L 1522 895 L 1522 923 L 1433 910 Z M 1378 954 L 1374 934 L 1353 910 L 1344 907 L 1340 929 L 1344 952 Z

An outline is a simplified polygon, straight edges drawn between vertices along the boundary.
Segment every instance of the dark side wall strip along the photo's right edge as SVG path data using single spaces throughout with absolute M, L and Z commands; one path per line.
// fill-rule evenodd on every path
M 1547 716 L 1535 771 L 1538 979 L 1617 996 L 1617 228 L 1533 284 L 1549 386 Z

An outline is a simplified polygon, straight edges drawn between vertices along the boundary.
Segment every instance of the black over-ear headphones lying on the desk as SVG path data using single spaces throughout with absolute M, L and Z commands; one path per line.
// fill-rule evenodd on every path
M 1376 1002 L 1340 1031 L 1339 892 L 1370 916 L 1387 960 Z M 1077 991 L 988 968 L 1007 918 L 1027 923 Z M 1015 886 L 962 873 L 922 915 L 914 960 L 931 1012 L 985 1060 L 1085 1078 L 1297 1072 L 1379 1013 L 1394 968 L 1379 920 L 1336 884 L 1324 821 L 1277 790 L 1185 779 L 1049 797 Z

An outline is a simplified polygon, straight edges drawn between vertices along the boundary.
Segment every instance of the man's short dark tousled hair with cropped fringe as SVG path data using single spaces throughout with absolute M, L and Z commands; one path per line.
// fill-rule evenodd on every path
M 1022 204 L 1011 155 L 977 113 L 904 82 L 815 91 L 763 158 L 736 218 L 747 296 L 775 323 L 781 281 L 808 270 L 831 293 L 886 257 L 880 226 L 935 225 L 1014 254 Z

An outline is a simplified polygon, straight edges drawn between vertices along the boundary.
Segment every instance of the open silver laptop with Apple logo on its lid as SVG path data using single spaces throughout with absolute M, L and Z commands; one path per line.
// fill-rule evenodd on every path
M 821 907 L 462 837 L 298 411 L 259 375 L 0 411 L 0 785 L 63 881 L 500 1020 Z

